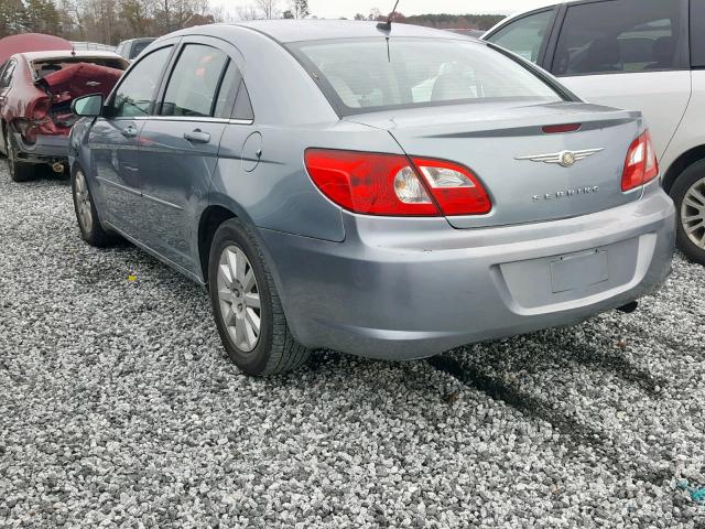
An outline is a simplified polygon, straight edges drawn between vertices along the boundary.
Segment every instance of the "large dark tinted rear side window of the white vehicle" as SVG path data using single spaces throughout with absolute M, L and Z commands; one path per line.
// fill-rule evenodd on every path
M 571 6 L 553 60 L 555 75 L 679 69 L 687 32 L 680 0 Z

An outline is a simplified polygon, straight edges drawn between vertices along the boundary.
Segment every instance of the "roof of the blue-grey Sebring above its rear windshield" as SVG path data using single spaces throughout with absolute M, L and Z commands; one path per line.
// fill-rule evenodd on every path
M 364 39 L 375 36 L 415 36 L 427 39 L 453 39 L 448 32 L 420 25 L 392 23 L 388 33 L 377 29 L 378 22 L 358 20 L 257 20 L 237 24 L 216 24 L 214 26 L 237 25 L 264 33 L 282 43 L 301 41 L 324 41 L 328 39 Z M 463 37 L 457 35 L 456 37 Z

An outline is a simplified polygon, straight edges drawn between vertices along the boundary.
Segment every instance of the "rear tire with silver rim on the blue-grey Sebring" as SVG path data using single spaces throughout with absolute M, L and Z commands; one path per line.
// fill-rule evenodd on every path
M 208 260 L 210 303 L 230 359 L 253 376 L 296 369 L 311 352 L 291 334 L 262 251 L 240 222 L 223 223 Z

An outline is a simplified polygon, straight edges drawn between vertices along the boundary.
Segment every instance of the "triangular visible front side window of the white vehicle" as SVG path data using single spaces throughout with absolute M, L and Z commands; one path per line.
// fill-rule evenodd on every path
M 536 63 L 552 21 L 553 10 L 541 11 L 509 22 L 487 40 Z

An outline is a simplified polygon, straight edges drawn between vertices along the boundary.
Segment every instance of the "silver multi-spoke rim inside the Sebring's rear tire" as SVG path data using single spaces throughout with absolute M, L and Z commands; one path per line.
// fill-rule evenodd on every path
M 218 301 L 225 327 L 235 345 L 245 353 L 260 339 L 261 304 L 254 270 L 237 246 L 226 247 L 218 261 Z

